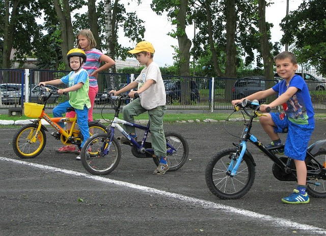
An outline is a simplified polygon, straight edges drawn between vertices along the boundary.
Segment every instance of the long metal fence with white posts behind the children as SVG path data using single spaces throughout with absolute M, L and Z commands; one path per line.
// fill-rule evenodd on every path
M 14 102 L 8 104 L 3 101 L 5 100 L 4 96 L 6 94 L 10 95 L 10 93 L 7 93 L 8 91 L 2 88 L 0 108 L 22 108 L 23 102 L 27 101 L 26 98 L 31 98 L 30 96 L 35 85 L 41 81 L 61 78 L 68 73 L 68 71 L 0 69 L 1 85 L 19 84 L 20 86 L 20 90 L 17 92 L 19 95 L 15 95 Z M 166 86 L 168 109 L 210 110 L 212 112 L 214 110 L 233 109 L 230 103 L 231 100 L 265 90 L 278 82 L 276 78 L 275 80 L 265 80 L 263 76 L 212 78 L 163 75 L 162 77 Z M 112 89 L 117 90 L 135 78 L 137 78 L 137 75 L 133 74 L 99 73 L 97 78 L 99 93 L 94 108 L 102 109 L 107 103 L 110 103 L 110 99 L 103 99 L 107 98 L 108 91 Z M 325 81 L 318 79 L 317 81 L 306 80 L 306 82 L 315 110 L 325 110 Z M 26 83 L 29 84 L 28 90 L 24 89 Z M 53 108 L 54 106 L 56 106 L 55 103 L 48 104 L 48 108 Z M 111 108 L 111 106 L 106 107 Z

